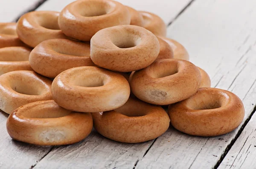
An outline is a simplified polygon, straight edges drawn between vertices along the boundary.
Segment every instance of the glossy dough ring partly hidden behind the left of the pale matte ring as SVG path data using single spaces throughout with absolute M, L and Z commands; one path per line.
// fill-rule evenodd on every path
M 90 59 L 90 44 L 68 39 L 49 39 L 37 45 L 29 56 L 31 67 L 50 78 L 79 66 L 95 66 Z

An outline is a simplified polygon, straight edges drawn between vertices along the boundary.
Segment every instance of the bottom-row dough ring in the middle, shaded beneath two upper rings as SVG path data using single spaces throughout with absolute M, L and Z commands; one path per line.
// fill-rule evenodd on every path
M 162 135 L 170 119 L 165 110 L 129 98 L 116 110 L 92 113 L 94 128 L 103 136 L 125 143 L 139 143 Z

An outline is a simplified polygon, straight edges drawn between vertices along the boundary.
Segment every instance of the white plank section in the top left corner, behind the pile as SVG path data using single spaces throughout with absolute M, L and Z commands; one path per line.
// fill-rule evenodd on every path
M 15 19 L 31 10 L 40 0 L 1 0 L 0 22 L 15 22 Z

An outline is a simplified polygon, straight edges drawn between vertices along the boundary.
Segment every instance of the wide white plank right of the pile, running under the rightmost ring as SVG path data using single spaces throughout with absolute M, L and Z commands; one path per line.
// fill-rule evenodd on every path
M 256 104 L 255 6 L 254 0 L 196 0 L 168 28 L 168 37 L 187 48 L 190 61 L 209 73 L 213 87 L 243 99 L 245 119 Z M 237 132 L 202 138 L 170 129 L 157 138 L 136 168 L 210 169 Z

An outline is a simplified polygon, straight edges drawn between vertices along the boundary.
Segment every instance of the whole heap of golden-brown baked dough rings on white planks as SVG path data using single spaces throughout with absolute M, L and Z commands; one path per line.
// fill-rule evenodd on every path
M 32 11 L 0 23 L 0 109 L 10 114 L 9 135 L 73 144 L 94 127 L 138 143 L 159 137 L 170 122 L 200 136 L 238 127 L 242 101 L 210 88 L 183 45 L 165 36 L 160 17 L 113 0 L 77 0 L 60 13 Z

